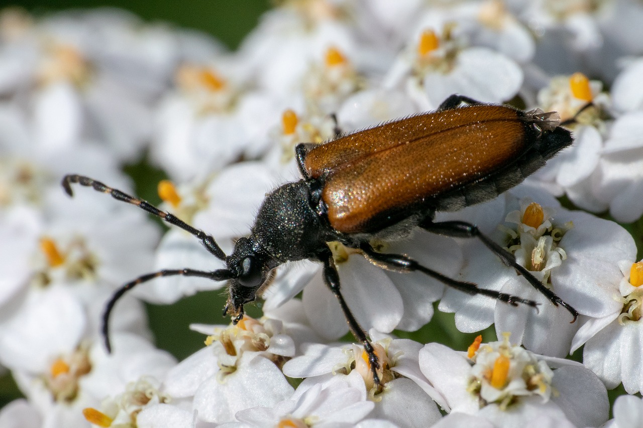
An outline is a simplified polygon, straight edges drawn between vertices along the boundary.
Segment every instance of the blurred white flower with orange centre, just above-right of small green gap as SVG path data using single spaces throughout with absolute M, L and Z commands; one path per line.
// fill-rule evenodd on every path
M 257 156 L 273 123 L 271 98 L 246 91 L 226 67 L 186 64 L 177 70 L 177 89 L 161 101 L 152 160 L 170 177 L 186 181 L 210 174 L 241 154 Z

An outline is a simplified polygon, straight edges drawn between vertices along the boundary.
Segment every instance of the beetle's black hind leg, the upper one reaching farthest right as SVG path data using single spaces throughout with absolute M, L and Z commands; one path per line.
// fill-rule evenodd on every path
M 518 273 L 525 277 L 527 281 L 543 294 L 550 302 L 555 306 L 561 305 L 563 308 L 569 311 L 570 314 L 574 317 L 572 323 L 576 321 L 578 317 L 578 311 L 575 310 L 571 305 L 566 303 L 563 299 L 559 298 L 556 293 L 548 289 L 538 280 L 531 272 L 527 271 L 524 266 L 516 262 L 516 258 L 509 251 L 505 250 L 500 245 L 496 244 L 489 238 L 489 236 L 484 235 L 480 232 L 475 224 L 460 222 L 460 221 L 449 221 L 449 222 L 432 222 L 430 220 L 425 220 L 421 225 L 423 229 L 430 231 L 431 233 L 437 233 L 438 235 L 452 236 L 453 238 L 478 238 L 487 248 L 493 251 L 496 256 L 500 257 L 502 263 L 509 267 L 516 269 Z

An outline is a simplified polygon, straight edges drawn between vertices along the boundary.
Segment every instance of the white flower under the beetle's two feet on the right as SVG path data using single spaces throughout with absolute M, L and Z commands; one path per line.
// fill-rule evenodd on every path
M 503 199 L 509 202 L 509 207 L 516 206 L 517 201 L 510 198 L 508 193 L 505 197 L 490 202 L 490 207 L 497 208 L 486 221 L 503 213 Z M 475 210 L 482 209 L 484 205 Z M 511 208 L 504 210 L 507 212 Z M 498 223 L 494 224 L 493 220 L 491 224 L 478 222 L 478 227 L 483 233 L 498 236 L 500 242 L 514 252 L 520 265 L 526 267 L 545 287 L 550 287 L 580 314 L 602 317 L 613 312 L 619 306 L 618 302 L 611 301 L 609 297 L 600 299 L 598 296 L 611 294 L 608 284 L 613 283 L 615 278 L 620 278 L 617 262 L 635 253 L 631 235 L 613 222 L 581 211 L 557 208 L 555 217 L 549 219 L 545 219 L 542 212 L 538 211 L 541 217 L 535 220 L 537 225 L 545 220 L 552 224 L 547 235 L 538 238 L 529 233 L 516 233 L 505 226 L 494 232 Z M 509 220 L 514 217 L 515 213 L 509 215 Z M 520 217 L 523 218 L 523 223 L 529 224 L 532 221 L 527 219 L 531 215 L 527 216 L 524 212 Z M 538 227 L 532 227 L 532 232 L 537 230 Z M 482 243 L 469 240 L 463 244 L 466 245 L 467 265 L 462 272 L 462 279 L 474 281 L 480 287 L 531 299 L 542 305 L 538 307 L 538 311 L 527 306 L 512 307 L 493 299 L 482 296 L 472 298 L 447 289 L 440 301 L 440 310 L 457 312 L 458 330 L 478 331 L 495 322 L 498 334 L 511 332 L 514 340 L 524 344 L 529 350 L 558 357 L 567 355 L 572 337 L 579 328 L 578 323 L 570 324 L 569 312 L 548 302 L 543 294 L 528 285 L 513 268 L 503 265 Z

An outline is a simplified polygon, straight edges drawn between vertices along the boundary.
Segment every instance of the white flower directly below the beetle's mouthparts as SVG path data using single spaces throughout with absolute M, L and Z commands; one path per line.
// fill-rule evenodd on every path
M 206 422 L 230 422 L 242 409 L 274 406 L 293 392 L 277 366 L 295 350 L 281 329 L 276 319 L 248 316 L 236 326 L 214 328 L 209 346 L 170 370 L 165 390 L 176 398 L 194 397 L 194 409 Z

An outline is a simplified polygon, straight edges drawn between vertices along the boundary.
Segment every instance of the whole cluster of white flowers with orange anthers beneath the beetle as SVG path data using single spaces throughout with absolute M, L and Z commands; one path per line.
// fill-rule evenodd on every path
M 0 428 L 605 424 L 606 389 L 643 391 L 643 262 L 624 227 L 556 197 L 638 222 L 640 235 L 643 5 L 280 3 L 234 53 L 116 10 L 0 12 L 0 371 L 26 397 L 0 410 Z M 329 244 L 379 358 L 379 386 L 361 345 L 336 342 L 349 327 L 312 262 L 276 269 L 261 319 L 193 326 L 206 346 L 181 362 L 152 344 L 140 299 L 172 303 L 225 284 L 149 281 L 114 308 L 105 350 L 105 301 L 123 283 L 221 262 L 185 231 L 161 236 L 133 206 L 91 190 L 67 198 L 64 174 L 132 193 L 123 165 L 145 155 L 172 180 L 159 183 L 163 209 L 230 254 L 266 192 L 298 179 L 297 143 L 436 109 L 454 93 L 574 118 L 574 145 L 525 183 L 438 218 L 492 236 L 578 310 L 575 323 L 482 242 L 416 231 L 373 245 L 538 310 L 384 271 Z M 435 307 L 455 313 L 461 332 L 494 325 L 502 340 L 478 337 L 458 352 L 396 337 Z M 582 364 L 565 359 L 583 345 Z M 611 428 L 643 426 L 633 395 L 613 415 Z

